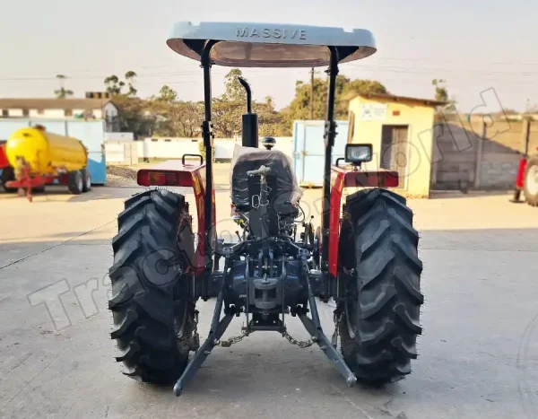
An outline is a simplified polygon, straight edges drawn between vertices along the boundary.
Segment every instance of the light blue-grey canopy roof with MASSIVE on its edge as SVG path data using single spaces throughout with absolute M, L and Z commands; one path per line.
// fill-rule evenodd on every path
M 253 22 L 178 22 L 167 41 L 178 54 L 200 60 L 205 42 L 218 40 L 215 65 L 237 67 L 316 67 L 329 65 L 327 47 L 335 47 L 341 63 L 376 52 L 370 31 L 307 25 Z

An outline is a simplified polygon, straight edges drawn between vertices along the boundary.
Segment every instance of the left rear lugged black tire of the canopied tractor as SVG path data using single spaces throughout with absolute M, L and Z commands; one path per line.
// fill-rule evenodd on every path
M 118 215 L 118 230 L 108 301 L 116 360 L 135 380 L 169 384 L 194 349 L 195 300 L 187 296 L 194 243 L 185 197 L 168 190 L 135 195 Z

